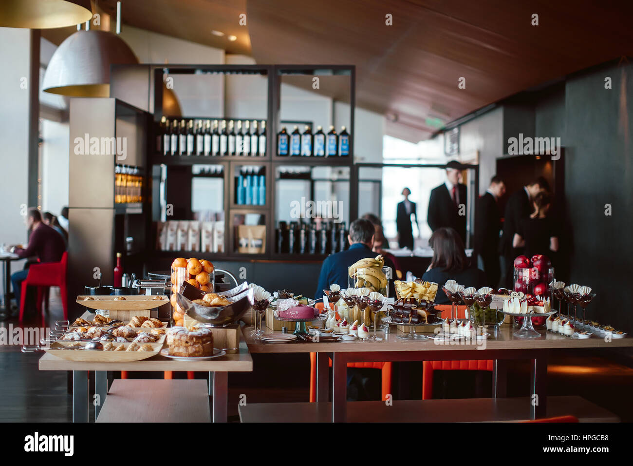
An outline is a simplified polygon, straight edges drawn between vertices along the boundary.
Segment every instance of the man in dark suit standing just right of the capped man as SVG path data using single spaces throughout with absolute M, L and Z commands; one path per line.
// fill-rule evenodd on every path
M 498 176 L 493 176 L 486 193 L 477 200 L 475 209 L 475 253 L 486 272 L 487 282 L 496 287 L 501 276 L 499 262 L 499 233 L 501 231 L 501 210 L 498 200 L 506 193 L 506 184 Z

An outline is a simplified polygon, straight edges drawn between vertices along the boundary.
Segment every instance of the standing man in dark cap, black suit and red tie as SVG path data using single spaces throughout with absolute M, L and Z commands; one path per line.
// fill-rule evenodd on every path
M 448 162 L 446 181 L 431 191 L 427 222 L 432 231 L 442 226 L 453 228 L 466 243 L 467 193 L 465 184 L 460 183 L 460 176 L 461 164 L 456 160 Z

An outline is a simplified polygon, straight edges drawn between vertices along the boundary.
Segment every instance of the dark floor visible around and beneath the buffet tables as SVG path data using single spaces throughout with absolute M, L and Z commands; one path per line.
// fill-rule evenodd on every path
M 33 314 L 25 321 L 27 327 L 39 325 L 39 319 Z M 51 327 L 51 323 L 61 318 L 58 293 L 53 290 L 46 326 Z M 15 327 L 17 319 L 0 322 L 0 328 L 7 329 L 9 324 Z M 68 394 L 66 372 L 39 371 L 40 357 L 41 353 L 21 353 L 20 346 L 0 345 L 0 422 L 68 422 L 72 419 L 72 396 Z M 310 362 L 307 354 L 285 357 L 258 354 L 254 355 L 254 365 L 253 373 L 229 375 L 230 420 L 237 420 L 237 401 L 242 394 L 246 394 L 250 403 L 308 401 Z M 199 375 L 206 377 L 203 373 Z M 130 377 L 158 378 L 162 373 L 130 373 Z M 489 389 L 487 377 L 486 373 L 463 372 L 442 379 L 438 373 L 436 386 L 438 392 L 442 392 L 443 380 L 448 396 L 467 398 L 474 396 L 474 385 L 482 384 L 482 380 L 486 381 L 484 391 Z M 513 364 L 508 376 L 508 395 L 527 395 L 528 384 L 527 362 Z M 615 362 L 609 354 L 568 353 L 549 360 L 548 394 L 580 395 L 616 413 L 625 422 L 633 421 L 633 403 L 629 401 L 632 389 L 633 368 Z M 417 392 L 417 387 L 413 392 Z

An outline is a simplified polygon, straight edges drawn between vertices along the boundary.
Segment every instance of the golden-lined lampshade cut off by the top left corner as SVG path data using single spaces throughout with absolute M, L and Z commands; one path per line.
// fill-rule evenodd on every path
M 91 18 L 87 0 L 0 1 L 0 27 L 51 29 L 84 23 Z

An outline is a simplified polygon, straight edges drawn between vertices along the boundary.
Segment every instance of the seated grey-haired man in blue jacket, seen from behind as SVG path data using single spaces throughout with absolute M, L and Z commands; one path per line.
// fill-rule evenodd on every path
M 325 258 L 321 266 L 321 273 L 316 287 L 315 299 L 323 297 L 323 290 L 327 290 L 330 285 L 336 283 L 342 290 L 348 288 L 348 267 L 360 259 L 376 257 L 372 251 L 373 236 L 375 230 L 373 224 L 366 219 L 354 220 L 349 226 L 349 249 L 336 254 L 331 254 Z M 385 257 L 385 266 L 391 267 L 391 276 L 394 274 L 394 265 Z M 394 296 L 393 278 L 391 279 L 389 295 Z

